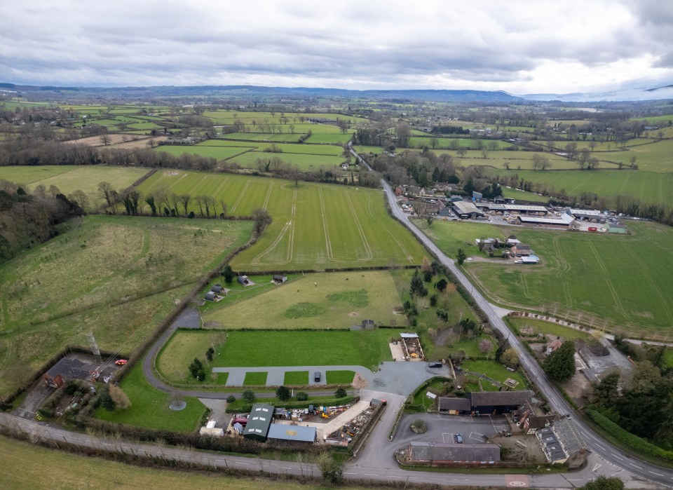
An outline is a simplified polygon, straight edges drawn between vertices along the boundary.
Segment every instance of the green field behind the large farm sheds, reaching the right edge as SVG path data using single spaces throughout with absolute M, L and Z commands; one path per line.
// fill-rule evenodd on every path
M 491 171 L 493 172 L 493 171 Z M 630 195 L 643 203 L 673 206 L 673 173 L 643 172 L 641 170 L 561 170 L 536 172 L 534 170 L 497 170 L 497 175 L 509 177 L 517 174 L 526 182 L 540 183 L 559 193 L 580 196 L 583 192 L 596 193 L 613 203 L 618 194 Z M 550 193 L 555 195 L 554 192 Z

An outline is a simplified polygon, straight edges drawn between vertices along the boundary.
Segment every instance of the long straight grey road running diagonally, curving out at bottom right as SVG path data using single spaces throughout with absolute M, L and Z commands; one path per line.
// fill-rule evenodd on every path
M 352 149 L 351 153 L 355 156 L 355 158 L 358 158 L 362 164 L 369 168 L 369 165 L 367 165 L 367 163 L 363 161 L 362 158 L 360 158 L 360 156 Z M 541 366 L 538 365 L 536 360 L 534 360 L 531 354 L 526 350 L 526 348 L 524 348 L 522 342 L 519 341 L 517 336 L 510 334 L 510 330 L 505 325 L 505 322 L 503 322 L 502 318 L 494 311 L 494 308 L 492 308 L 491 304 L 482 296 L 481 292 L 475 289 L 465 274 L 463 274 L 463 271 L 461 271 L 461 269 L 456 266 L 454 261 L 449 259 L 449 257 L 447 257 L 447 255 L 444 254 L 444 252 L 442 252 L 442 250 L 440 250 L 440 248 L 437 247 L 437 245 L 435 245 L 435 243 L 433 243 L 430 238 L 423 234 L 423 232 L 421 232 L 421 230 L 418 229 L 416 225 L 414 225 L 409 220 L 409 217 L 407 217 L 405 213 L 402 212 L 402 209 L 400 209 L 400 206 L 397 205 L 397 201 L 395 200 L 395 193 L 393 193 L 393 189 L 391 189 L 388 182 L 386 182 L 384 179 L 381 179 L 381 185 L 383 186 L 383 191 L 385 191 L 386 197 L 388 198 L 390 209 L 397 220 L 405 225 L 409 231 L 414 233 L 414 236 L 416 236 L 416 238 L 418 238 L 421 243 L 423 243 L 426 249 L 435 255 L 437 260 L 440 261 L 442 265 L 446 266 L 449 271 L 451 271 L 456 280 L 458 280 L 458 282 L 461 283 L 461 285 L 463 285 L 463 287 L 465 287 L 468 292 L 470 292 L 470 295 L 475 299 L 477 305 L 484 312 L 484 314 L 487 315 L 491 326 L 498 329 L 503 334 L 503 336 L 509 340 L 510 345 L 517 349 L 519 352 L 519 362 L 521 366 L 526 370 L 530 378 L 536 383 L 538 390 L 540 390 L 540 392 L 546 397 L 550 407 L 559 414 L 573 414 L 573 409 L 571 409 L 568 402 L 566 402 L 558 390 L 552 386 L 550 381 L 548 381 Z M 658 482 L 660 484 L 665 484 L 667 486 L 673 486 L 672 470 L 668 470 L 667 468 L 660 468 L 657 465 L 652 465 L 651 463 L 641 461 L 638 458 L 634 458 L 633 456 L 623 453 L 620 451 L 620 449 L 613 447 L 609 442 L 606 442 L 606 440 L 604 440 L 602 437 L 599 437 L 599 435 L 595 434 L 578 417 L 575 417 L 575 423 L 578 426 L 580 433 L 585 437 L 587 447 L 597 454 L 601 459 L 606 461 L 606 463 L 614 465 L 617 468 L 623 468 L 623 470 L 626 472 L 629 472 L 630 474 L 637 477 L 648 479 L 653 482 Z

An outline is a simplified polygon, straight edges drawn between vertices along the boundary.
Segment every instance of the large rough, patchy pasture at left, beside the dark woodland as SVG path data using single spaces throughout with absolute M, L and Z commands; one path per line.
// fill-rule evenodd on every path
M 90 216 L 0 266 L 0 393 L 67 345 L 130 354 L 250 222 Z M 198 250 L 198 253 L 194 253 Z

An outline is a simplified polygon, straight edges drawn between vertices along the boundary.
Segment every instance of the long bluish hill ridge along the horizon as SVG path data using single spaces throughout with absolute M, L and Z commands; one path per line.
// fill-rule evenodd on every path
M 0 86 L 11 84 L 0 83 Z M 340 88 L 264 87 L 264 86 L 156 86 L 156 87 L 57 87 L 11 86 L 27 97 L 39 93 L 41 100 L 100 99 L 147 100 L 151 97 L 264 97 L 288 96 L 364 98 L 391 102 L 522 102 L 501 90 L 345 90 Z

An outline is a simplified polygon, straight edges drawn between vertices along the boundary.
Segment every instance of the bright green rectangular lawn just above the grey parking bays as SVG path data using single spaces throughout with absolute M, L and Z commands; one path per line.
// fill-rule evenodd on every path
M 402 330 L 231 331 L 216 367 L 340 366 L 374 369 L 393 360 L 388 341 Z M 352 381 L 352 379 L 351 379 Z

